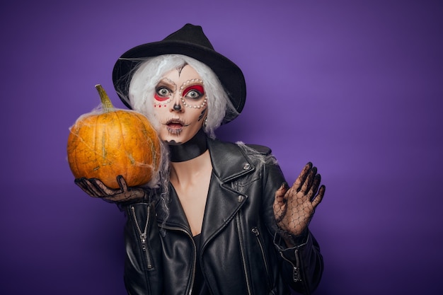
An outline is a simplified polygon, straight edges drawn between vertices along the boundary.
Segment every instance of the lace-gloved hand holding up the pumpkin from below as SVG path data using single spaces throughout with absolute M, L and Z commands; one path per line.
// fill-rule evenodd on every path
M 98 178 L 77 178 L 74 183 L 91 197 L 99 197 L 109 202 L 127 202 L 133 199 L 142 199 L 149 195 L 142 187 L 128 187 L 122 175 L 117 176 L 117 189 L 107 187 Z

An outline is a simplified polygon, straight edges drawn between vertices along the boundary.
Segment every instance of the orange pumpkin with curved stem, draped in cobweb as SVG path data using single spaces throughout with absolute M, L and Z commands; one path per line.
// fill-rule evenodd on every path
M 75 178 L 98 178 L 118 188 L 117 175 L 128 186 L 144 185 L 159 170 L 159 137 L 144 115 L 115 109 L 102 86 L 96 85 L 101 112 L 82 115 L 70 128 L 67 152 Z

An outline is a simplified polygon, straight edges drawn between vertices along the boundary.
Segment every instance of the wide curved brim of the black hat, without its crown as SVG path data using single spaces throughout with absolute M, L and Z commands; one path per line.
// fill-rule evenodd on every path
M 236 111 L 240 113 L 243 110 L 246 102 L 246 83 L 241 69 L 230 59 L 214 50 L 178 40 L 163 40 L 139 45 L 122 54 L 117 60 L 113 69 L 113 82 L 122 102 L 128 108 L 131 106 L 124 96 L 128 94 L 127 85 L 131 79 L 131 71 L 142 62 L 143 58 L 163 54 L 183 54 L 209 66 L 219 78 Z M 229 119 L 225 117 L 223 123 L 233 119 L 232 116 Z

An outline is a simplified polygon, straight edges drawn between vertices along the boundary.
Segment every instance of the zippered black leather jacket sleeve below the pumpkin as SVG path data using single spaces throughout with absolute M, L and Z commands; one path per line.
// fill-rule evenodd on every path
M 129 295 L 163 293 L 161 238 L 155 207 L 146 202 L 122 208 L 125 224 L 125 287 Z

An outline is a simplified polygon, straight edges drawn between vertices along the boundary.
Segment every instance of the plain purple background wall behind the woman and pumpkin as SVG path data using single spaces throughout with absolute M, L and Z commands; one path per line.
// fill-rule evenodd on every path
M 289 183 L 307 161 L 316 294 L 441 294 L 441 1 L 3 1 L 0 294 L 125 294 L 124 216 L 74 185 L 68 127 L 118 107 L 111 71 L 135 45 L 200 24 L 243 69 L 222 139 L 270 146 Z

